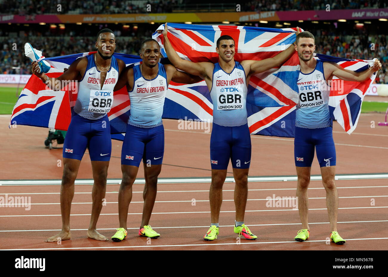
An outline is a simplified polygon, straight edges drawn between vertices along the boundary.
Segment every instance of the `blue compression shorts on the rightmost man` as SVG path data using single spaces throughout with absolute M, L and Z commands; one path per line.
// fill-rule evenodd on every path
M 314 159 L 314 148 L 317 151 L 320 167 L 336 165 L 333 127 L 317 129 L 295 127 L 295 166 L 311 167 Z

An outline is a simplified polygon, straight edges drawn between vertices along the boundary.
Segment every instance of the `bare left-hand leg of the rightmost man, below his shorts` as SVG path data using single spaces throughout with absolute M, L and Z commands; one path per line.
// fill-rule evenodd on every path
M 298 185 L 296 187 L 296 197 L 298 197 L 298 209 L 302 229 L 310 230 L 308 226 L 308 194 L 307 188 L 310 184 L 311 167 L 296 167 L 298 175 Z

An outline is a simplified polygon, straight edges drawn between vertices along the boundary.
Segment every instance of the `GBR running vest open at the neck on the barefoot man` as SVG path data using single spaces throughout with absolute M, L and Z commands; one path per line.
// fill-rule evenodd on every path
M 88 65 L 82 80 L 78 84 L 77 100 L 73 111 L 81 117 L 100 119 L 110 111 L 113 105 L 113 88 L 119 78 L 116 58 L 111 58 L 111 68 L 106 73 L 104 85 L 100 86 L 100 71 L 94 62 L 94 55 L 88 55 Z

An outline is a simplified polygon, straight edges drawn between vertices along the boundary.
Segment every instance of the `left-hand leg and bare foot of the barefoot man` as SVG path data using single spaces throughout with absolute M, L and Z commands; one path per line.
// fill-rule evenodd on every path
M 46 242 L 57 242 L 71 239 L 70 234 L 70 209 L 74 196 L 74 181 L 77 178 L 80 160 L 63 158 L 63 175 L 61 184 L 61 214 L 62 230 L 57 235 L 49 237 Z

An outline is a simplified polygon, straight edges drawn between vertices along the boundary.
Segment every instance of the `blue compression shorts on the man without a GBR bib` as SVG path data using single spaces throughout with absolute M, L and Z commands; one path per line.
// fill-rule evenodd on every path
M 142 128 L 126 125 L 126 133 L 121 149 L 121 164 L 139 167 L 144 164 L 162 164 L 165 152 L 165 129 L 163 125 Z

